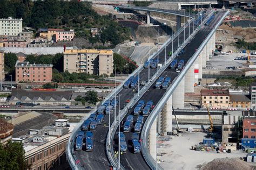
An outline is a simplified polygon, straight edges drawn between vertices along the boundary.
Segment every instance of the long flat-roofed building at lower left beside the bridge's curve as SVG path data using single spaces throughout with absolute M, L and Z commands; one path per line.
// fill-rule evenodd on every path
M 75 126 L 59 127 L 56 126 L 58 120 L 55 122 L 55 125 L 31 129 L 25 136 L 12 138 L 13 142 L 23 143 L 25 162 L 29 169 L 69 169 L 65 149 Z

